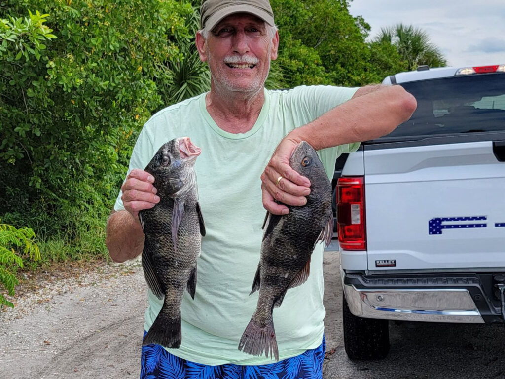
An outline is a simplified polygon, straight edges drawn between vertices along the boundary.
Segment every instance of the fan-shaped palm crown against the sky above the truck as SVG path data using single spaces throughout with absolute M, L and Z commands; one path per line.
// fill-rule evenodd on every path
M 428 34 L 412 25 L 400 23 L 382 28 L 374 41 L 394 46 L 401 60 L 406 62 L 409 71 L 417 69 L 420 65 L 443 67 L 447 63 L 437 46 L 430 43 Z

